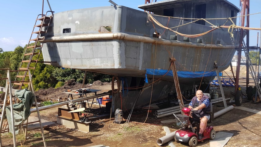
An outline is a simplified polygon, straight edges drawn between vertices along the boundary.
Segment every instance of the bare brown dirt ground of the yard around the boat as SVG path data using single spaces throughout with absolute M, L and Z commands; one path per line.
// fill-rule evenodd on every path
M 229 72 L 229 70 L 227 71 Z M 230 73 L 229 73 L 230 74 Z M 245 75 L 244 73 L 242 73 Z M 75 85 L 74 85 L 75 84 Z M 61 94 L 61 91 L 67 89 L 80 89 L 79 83 L 67 83 L 65 86 L 58 89 L 39 90 L 35 92 L 38 101 L 56 101 L 58 98 L 62 101 L 67 99 L 67 94 Z M 217 86 L 216 86 L 217 87 Z M 103 93 L 111 90 L 111 83 L 102 83 L 100 81 L 94 82 L 92 85 L 85 85 L 84 88 L 100 89 L 97 92 Z M 219 88 L 219 87 L 217 87 Z M 234 88 L 224 87 L 224 94 L 226 98 L 232 98 Z M 221 97 L 220 89 L 217 89 L 219 97 Z M 242 86 L 242 92 L 246 94 L 246 87 Z M 76 97 L 75 97 L 76 98 Z M 214 112 L 224 109 L 223 103 L 213 105 Z M 255 109 L 261 111 L 260 103 L 253 104 L 251 101 L 244 102 L 242 107 Z M 105 107 L 102 108 L 102 112 Z M 158 147 L 157 139 L 163 137 L 165 131 L 163 126 L 170 128 L 171 132 L 179 129 L 175 123 L 161 123 L 163 120 L 174 119 L 174 116 L 167 116 L 160 119 L 155 119 L 152 112 L 147 109 L 134 109 L 130 123 L 114 123 L 113 117 L 97 119 L 91 122 L 90 132 L 84 133 L 69 129 L 63 125 L 56 123 L 58 108 L 52 108 L 40 111 L 42 119 L 55 122 L 44 129 L 47 146 L 51 147 L 88 147 L 92 145 L 107 145 L 110 147 Z M 99 108 L 97 107 L 97 112 Z M 127 119 L 130 112 L 124 112 L 124 119 Z M 32 116 L 37 116 L 37 113 L 32 113 Z M 230 132 L 234 135 L 227 142 L 225 147 L 258 147 L 260 145 L 261 135 L 259 130 L 260 114 L 255 114 L 248 111 L 236 109 L 236 106 L 231 111 L 217 117 L 209 125 L 212 125 L 216 132 Z M 39 135 L 40 129 L 33 129 L 28 131 L 28 139 L 17 139 L 17 145 L 24 147 L 42 147 L 42 138 Z M 3 146 L 13 146 L 13 141 L 10 133 L 2 133 Z M 188 146 L 186 143 L 173 142 L 177 147 Z M 167 143 L 162 146 L 168 146 Z M 209 147 L 209 139 L 199 142 L 199 147 Z

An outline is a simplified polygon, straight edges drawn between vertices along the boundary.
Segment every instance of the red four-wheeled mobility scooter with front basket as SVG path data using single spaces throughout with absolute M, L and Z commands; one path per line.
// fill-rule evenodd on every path
M 214 119 L 214 114 L 212 110 L 212 104 L 210 103 L 210 112 L 207 112 L 210 114 L 210 120 L 208 123 L 210 123 Z M 199 126 L 200 126 L 200 119 L 190 118 L 189 113 L 190 111 L 193 112 L 194 110 L 189 108 L 183 108 L 181 109 L 182 112 L 184 112 L 184 115 L 181 114 L 173 114 L 176 117 L 176 123 L 177 126 L 180 126 L 179 130 L 176 131 L 175 134 L 175 141 L 180 142 L 188 142 L 191 147 L 195 147 L 199 141 L 202 141 L 204 139 L 215 139 L 216 137 L 216 131 L 213 129 L 213 126 L 207 125 L 206 129 L 202 133 L 202 139 L 198 139 L 198 133 L 199 133 Z M 189 124 L 190 122 L 190 124 Z

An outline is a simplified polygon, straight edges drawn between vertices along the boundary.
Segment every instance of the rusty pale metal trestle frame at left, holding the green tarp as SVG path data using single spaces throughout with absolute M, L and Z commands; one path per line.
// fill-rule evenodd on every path
M 6 80 L 6 85 L 5 85 L 5 88 L 3 90 L 5 92 L 5 97 L 3 99 L 4 105 L 3 105 L 3 108 L 2 108 L 2 114 L 0 115 L 1 116 L 1 121 L 0 121 L 0 146 L 2 146 L 1 133 L 6 132 L 6 126 L 8 125 L 8 126 L 11 126 L 11 128 L 12 128 L 12 134 L 13 134 L 12 136 L 13 136 L 13 143 L 14 143 L 13 146 L 16 147 L 15 127 L 19 127 L 20 133 L 22 133 L 23 131 L 21 131 L 22 128 L 20 126 L 26 125 L 24 133 L 25 133 L 25 139 L 27 139 L 27 130 L 28 130 L 28 124 L 29 123 L 28 123 L 28 119 L 26 119 L 26 120 L 23 120 L 21 125 L 15 126 L 14 105 L 12 105 L 12 98 L 13 98 L 12 92 L 13 92 L 14 89 L 12 89 L 13 81 L 11 81 L 11 72 L 17 72 L 17 71 L 11 71 L 9 68 L 4 68 L 4 69 L 0 69 L 0 70 L 6 70 L 7 71 L 7 78 L 1 78 L 0 79 L 0 80 Z M 28 75 L 31 75 L 29 70 L 27 72 L 28 72 Z M 25 82 L 25 81 L 21 81 L 21 82 Z M 35 93 L 34 87 L 33 87 L 33 84 L 32 84 L 31 76 L 29 76 L 29 80 L 28 80 L 28 89 L 33 94 Z M 6 121 L 7 123 L 4 123 L 4 119 L 5 119 L 4 116 L 5 116 L 5 112 L 6 112 L 5 110 L 6 110 L 6 106 L 7 106 L 7 102 L 8 102 L 8 96 L 10 98 L 10 109 L 11 109 L 11 122 L 12 122 L 12 124 L 8 124 L 7 121 Z M 41 132 L 42 132 L 42 138 L 43 138 L 44 146 L 46 147 L 47 145 L 46 145 L 46 142 L 45 142 L 45 135 L 44 135 L 44 130 L 43 130 L 42 123 L 41 123 L 41 117 L 40 117 L 36 97 L 33 101 L 35 102 L 36 110 L 37 110 L 37 114 L 38 114 L 38 119 L 39 119 L 37 122 L 39 122 Z M 16 100 L 15 100 L 15 103 L 16 103 Z M 25 121 L 26 121 L 26 124 L 25 124 Z

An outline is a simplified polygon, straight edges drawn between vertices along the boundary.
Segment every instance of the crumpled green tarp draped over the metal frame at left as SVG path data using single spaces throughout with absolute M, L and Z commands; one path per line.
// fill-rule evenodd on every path
M 15 97 L 21 100 L 20 103 L 13 105 L 15 125 L 21 125 L 31 114 L 30 108 L 35 99 L 35 94 L 28 89 L 22 89 L 15 92 Z M 6 106 L 5 114 L 9 124 L 9 132 L 12 133 L 13 128 L 10 105 Z M 18 127 L 15 127 L 15 134 L 18 134 L 18 132 Z

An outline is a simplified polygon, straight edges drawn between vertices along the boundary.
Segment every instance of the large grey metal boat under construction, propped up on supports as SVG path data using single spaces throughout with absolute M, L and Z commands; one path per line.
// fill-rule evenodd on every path
M 44 61 L 114 75 L 118 90 L 112 105 L 123 110 L 175 91 L 170 57 L 176 60 L 181 91 L 208 84 L 216 67 L 222 71 L 230 65 L 240 36 L 233 28 L 240 10 L 232 3 L 165 0 L 138 7 L 145 12 L 114 5 L 54 14 Z

